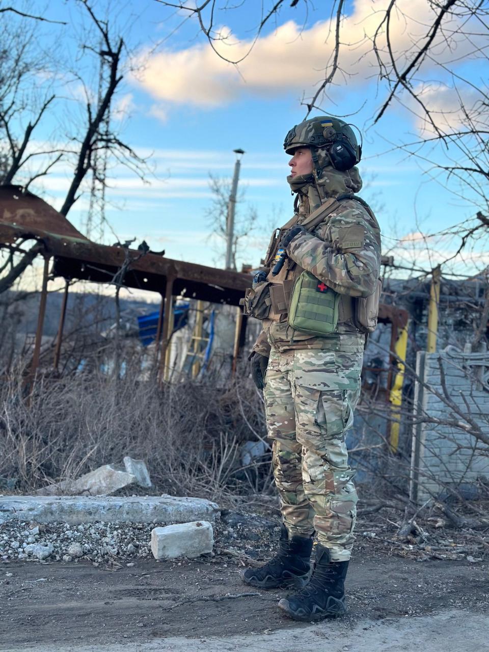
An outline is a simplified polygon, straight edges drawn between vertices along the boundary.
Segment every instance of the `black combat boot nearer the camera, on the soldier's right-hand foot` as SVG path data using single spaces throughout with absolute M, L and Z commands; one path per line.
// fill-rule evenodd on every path
M 309 584 L 278 602 L 294 620 L 310 622 L 346 614 L 345 578 L 348 561 L 329 562 L 329 550 L 320 544 Z

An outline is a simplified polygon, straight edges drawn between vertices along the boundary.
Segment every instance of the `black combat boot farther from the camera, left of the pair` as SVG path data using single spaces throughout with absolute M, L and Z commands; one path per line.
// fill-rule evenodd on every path
M 310 573 L 312 539 L 310 537 L 288 537 L 282 526 L 278 553 L 259 569 L 245 569 L 240 572 L 244 584 L 260 589 L 278 587 L 301 588 L 307 584 Z

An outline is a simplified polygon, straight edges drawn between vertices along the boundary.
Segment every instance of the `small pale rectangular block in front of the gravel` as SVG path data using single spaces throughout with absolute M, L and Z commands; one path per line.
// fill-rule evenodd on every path
M 198 557 L 212 552 L 213 526 L 207 521 L 155 527 L 151 532 L 151 552 L 155 559 Z

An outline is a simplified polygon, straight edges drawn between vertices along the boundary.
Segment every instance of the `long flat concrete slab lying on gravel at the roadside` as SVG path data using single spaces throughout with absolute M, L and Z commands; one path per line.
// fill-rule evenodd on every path
M 73 525 L 104 523 L 187 523 L 220 517 L 216 503 L 203 498 L 146 496 L 2 496 L 0 523 L 19 520 Z

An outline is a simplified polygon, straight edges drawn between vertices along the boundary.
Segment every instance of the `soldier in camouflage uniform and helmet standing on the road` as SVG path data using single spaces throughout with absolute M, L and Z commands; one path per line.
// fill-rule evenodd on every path
M 362 187 L 361 145 L 349 125 L 306 120 L 284 149 L 295 215 L 273 233 L 244 299 L 244 312 L 263 320 L 252 376 L 265 398 L 283 524 L 276 556 L 241 578 L 264 589 L 296 587 L 278 606 L 311 621 L 346 612 L 357 493 L 345 438 L 366 334 L 377 323 L 381 244 L 374 214 L 353 195 Z

